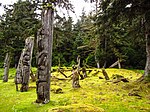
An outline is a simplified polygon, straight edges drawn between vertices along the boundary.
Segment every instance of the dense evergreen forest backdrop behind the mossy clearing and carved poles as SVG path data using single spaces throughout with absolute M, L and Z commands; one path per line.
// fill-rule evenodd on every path
M 98 4 L 98 3 L 97 3 Z M 104 5 L 103 5 L 104 6 Z M 36 38 L 41 27 L 41 16 L 34 1 L 21 1 L 4 6 L 0 18 L 0 67 L 6 53 L 11 54 L 11 67 L 16 67 L 24 41 L 35 37 L 32 66 L 36 67 Z M 86 14 L 74 23 L 72 17 L 55 13 L 52 66 L 72 66 L 80 55 L 82 65 L 109 67 L 118 59 L 123 68 L 144 69 L 146 62 L 144 28 L 142 17 L 128 20 L 122 16 L 108 23 L 97 10 Z M 97 16 L 99 15 L 99 16 Z M 116 24 L 117 23 L 117 24 Z

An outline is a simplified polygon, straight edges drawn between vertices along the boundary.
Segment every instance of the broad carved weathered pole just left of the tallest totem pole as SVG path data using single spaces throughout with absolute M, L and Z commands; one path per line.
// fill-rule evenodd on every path
M 28 91 L 33 46 L 34 46 L 34 38 L 28 37 L 25 41 L 25 48 L 23 49 L 21 60 L 22 61 L 22 82 L 20 88 L 21 92 Z

